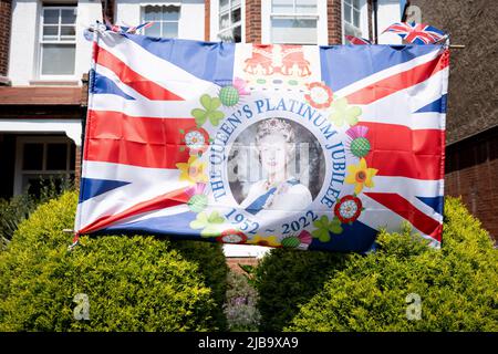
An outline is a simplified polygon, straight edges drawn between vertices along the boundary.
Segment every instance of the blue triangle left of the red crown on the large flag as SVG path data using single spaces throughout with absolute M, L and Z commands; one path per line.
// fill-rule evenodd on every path
M 235 43 L 123 35 L 199 79 L 220 86 L 234 81 Z

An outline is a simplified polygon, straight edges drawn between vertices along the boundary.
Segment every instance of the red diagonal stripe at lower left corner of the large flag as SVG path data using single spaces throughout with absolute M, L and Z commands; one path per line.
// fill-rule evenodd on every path
M 98 218 L 97 220 L 89 223 L 86 227 L 81 229 L 77 233 L 84 235 L 84 233 L 94 232 L 94 231 L 104 229 L 106 227 L 110 227 L 111 225 L 113 225 L 117 221 L 122 221 L 124 219 L 127 219 L 129 217 L 133 217 L 133 216 L 136 216 L 139 214 L 165 209 L 165 208 L 170 208 L 170 207 L 175 207 L 175 206 L 178 206 L 181 204 L 186 204 L 190 198 L 187 194 L 185 194 L 185 190 L 188 188 L 189 187 L 176 189 L 176 190 L 169 191 L 167 194 L 164 194 L 162 196 L 158 196 L 156 198 L 153 198 L 151 200 L 139 202 L 122 212 Z

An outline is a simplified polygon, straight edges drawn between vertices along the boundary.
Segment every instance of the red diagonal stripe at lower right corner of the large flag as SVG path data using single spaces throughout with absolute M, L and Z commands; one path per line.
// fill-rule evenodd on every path
M 443 230 L 442 223 L 418 210 L 414 205 L 398 194 L 369 191 L 365 192 L 365 195 L 408 220 L 415 228 L 425 235 L 440 241 Z

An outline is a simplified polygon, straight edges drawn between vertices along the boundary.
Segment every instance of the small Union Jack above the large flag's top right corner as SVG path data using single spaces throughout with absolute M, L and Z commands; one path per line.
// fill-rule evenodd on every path
M 396 22 L 386 28 L 384 32 L 396 33 L 413 44 L 437 43 L 445 38 L 445 33 L 435 27 L 415 22 Z

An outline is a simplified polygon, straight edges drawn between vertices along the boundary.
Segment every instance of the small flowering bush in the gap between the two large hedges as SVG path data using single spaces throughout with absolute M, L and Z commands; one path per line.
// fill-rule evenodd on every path
M 252 288 L 248 279 L 239 273 L 228 273 L 227 303 L 225 314 L 230 331 L 257 331 L 261 315 L 256 303 L 258 292 Z

